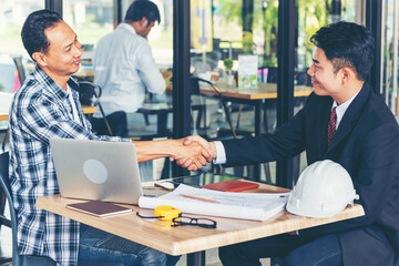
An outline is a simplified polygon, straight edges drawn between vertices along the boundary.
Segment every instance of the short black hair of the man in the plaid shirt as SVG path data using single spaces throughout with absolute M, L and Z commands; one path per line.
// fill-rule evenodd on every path
M 34 52 L 48 52 L 50 42 L 44 31 L 61 20 L 60 13 L 48 9 L 34 11 L 28 16 L 22 27 L 21 37 L 23 47 L 31 58 Z

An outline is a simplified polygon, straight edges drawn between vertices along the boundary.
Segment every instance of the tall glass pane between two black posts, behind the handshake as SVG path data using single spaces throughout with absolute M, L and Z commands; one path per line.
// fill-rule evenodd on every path
M 226 102 L 225 108 L 208 85 L 200 83 L 200 101 L 192 96 L 193 133 L 217 140 L 234 137 L 232 126 L 237 137 L 273 132 L 277 94 L 272 99 L 250 94 L 277 91 L 278 0 L 191 1 L 191 73 L 214 82 Z M 245 73 L 244 64 L 253 70 Z M 205 114 L 194 112 L 203 103 Z M 225 173 L 252 178 L 257 171 L 270 181 L 275 164 L 227 168 Z

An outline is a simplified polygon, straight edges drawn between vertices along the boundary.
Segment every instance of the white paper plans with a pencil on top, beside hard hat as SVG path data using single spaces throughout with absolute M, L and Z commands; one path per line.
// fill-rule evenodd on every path
M 168 205 L 183 213 L 265 221 L 285 208 L 289 193 L 234 193 L 181 184 L 160 197 L 140 197 L 139 206 Z

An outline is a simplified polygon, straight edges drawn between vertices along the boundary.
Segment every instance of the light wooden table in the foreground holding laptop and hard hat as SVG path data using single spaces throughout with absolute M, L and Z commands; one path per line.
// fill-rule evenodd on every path
M 287 190 L 260 184 L 260 187 L 250 192 L 285 192 Z M 247 191 L 249 192 L 249 191 Z M 190 265 L 201 265 L 205 249 L 247 242 L 260 237 L 278 235 L 291 231 L 308 228 L 337 221 L 354 218 L 364 215 L 360 205 L 347 207 L 341 213 L 329 218 L 308 218 L 293 215 L 283 211 L 280 214 L 265 222 L 232 219 L 214 217 L 217 228 L 207 229 L 196 226 L 171 227 L 170 222 L 140 218 L 135 213 L 111 217 L 95 217 L 65 207 L 65 204 L 84 202 L 82 200 L 62 198 L 60 195 L 39 197 L 37 206 L 49 212 L 69 217 L 83 224 L 106 231 L 114 235 L 171 254 L 188 254 Z M 136 206 L 125 205 L 143 215 L 153 215 L 153 211 L 140 209 Z M 192 215 L 193 217 L 204 217 Z

